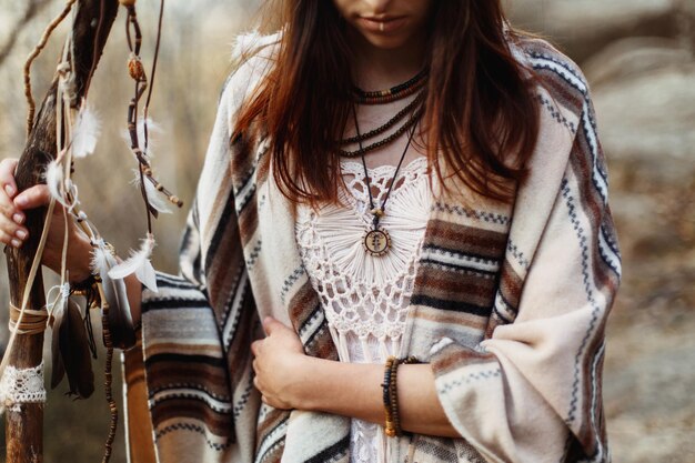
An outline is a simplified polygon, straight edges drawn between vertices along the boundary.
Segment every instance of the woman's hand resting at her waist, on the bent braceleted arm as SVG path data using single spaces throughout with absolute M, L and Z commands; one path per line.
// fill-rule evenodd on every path
M 263 320 L 265 339 L 251 344 L 253 384 L 261 391 L 262 400 L 276 409 L 302 407 L 303 392 L 310 383 L 309 363 L 312 358 L 304 354 L 296 333 L 269 316 Z

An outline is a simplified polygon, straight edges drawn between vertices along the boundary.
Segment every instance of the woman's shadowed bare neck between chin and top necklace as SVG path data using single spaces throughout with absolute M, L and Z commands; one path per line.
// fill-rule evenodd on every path
M 379 48 L 349 31 L 353 81 L 364 90 L 383 90 L 405 82 L 424 67 L 426 38 L 416 37 L 397 49 Z

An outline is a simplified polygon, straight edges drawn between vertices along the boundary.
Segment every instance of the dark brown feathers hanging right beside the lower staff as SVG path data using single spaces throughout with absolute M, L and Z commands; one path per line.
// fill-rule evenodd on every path
M 84 321 L 78 304 L 63 295 L 53 308 L 51 351 L 51 387 L 56 389 L 68 374 L 69 395 L 77 395 L 79 399 L 92 395 L 94 373 Z

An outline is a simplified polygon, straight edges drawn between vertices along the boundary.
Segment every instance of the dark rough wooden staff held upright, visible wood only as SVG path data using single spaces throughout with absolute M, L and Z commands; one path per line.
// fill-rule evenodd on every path
M 78 97 L 83 97 L 90 72 L 97 67 L 103 47 L 118 12 L 118 0 L 80 0 L 73 24 L 74 62 Z M 102 11 L 103 8 L 103 11 Z M 97 36 L 98 39 L 97 39 Z M 48 161 L 56 157 L 56 90 L 58 79 L 48 91 L 27 140 L 17 167 L 17 187 L 20 191 L 41 182 L 41 173 Z M 78 98 L 79 101 L 79 98 Z M 20 249 L 6 248 L 10 302 L 22 304 L 24 291 L 29 291 L 27 309 L 41 310 L 46 305 L 41 273 L 27 289 L 27 279 L 38 249 L 46 209 L 27 211 L 29 240 Z M 34 368 L 41 363 L 43 333 L 17 334 L 9 356 L 9 365 L 16 369 Z M 43 405 L 22 404 L 19 411 L 8 409 L 6 417 L 7 462 L 39 463 L 43 461 Z

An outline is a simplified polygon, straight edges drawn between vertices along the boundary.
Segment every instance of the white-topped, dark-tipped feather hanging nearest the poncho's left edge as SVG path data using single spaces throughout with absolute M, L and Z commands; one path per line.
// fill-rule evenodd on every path
M 115 265 L 118 265 L 115 258 L 107 249 L 104 241 L 99 240 L 92 251 L 91 269 L 92 273 L 100 275 L 103 294 L 109 303 L 111 342 L 115 348 L 125 350 L 135 344 L 135 329 L 130 314 L 125 282 L 109 276 L 109 270 Z

